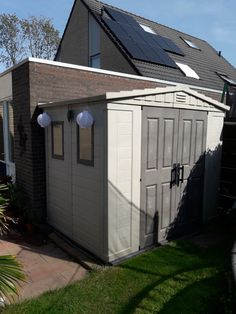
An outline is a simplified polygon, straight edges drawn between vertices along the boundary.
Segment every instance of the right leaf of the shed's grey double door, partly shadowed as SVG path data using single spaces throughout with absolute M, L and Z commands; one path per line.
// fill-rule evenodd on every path
M 178 163 L 183 182 L 176 186 L 176 212 L 166 237 L 172 238 L 201 223 L 207 113 L 180 110 Z

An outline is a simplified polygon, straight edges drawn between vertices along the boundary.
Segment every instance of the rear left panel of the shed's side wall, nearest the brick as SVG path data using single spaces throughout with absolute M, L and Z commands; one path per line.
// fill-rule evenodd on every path
M 53 122 L 64 123 L 64 159 L 52 156 L 52 126 L 47 130 L 47 220 L 68 237 L 72 237 L 72 203 L 71 203 L 71 145 L 67 138 L 71 136 L 70 125 L 66 119 L 66 109 L 48 110 Z

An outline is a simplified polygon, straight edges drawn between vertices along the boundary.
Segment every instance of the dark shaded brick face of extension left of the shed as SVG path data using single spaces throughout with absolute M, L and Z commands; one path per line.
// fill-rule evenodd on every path
M 43 175 L 45 170 L 44 153 L 42 153 L 44 137 L 43 131 L 38 129 L 35 123 L 32 123 L 29 85 L 29 63 L 25 63 L 12 72 L 16 181 L 27 192 L 30 206 L 41 212 L 42 209 L 45 209 L 43 201 L 45 190 L 42 184 L 42 180 L 45 178 Z M 35 108 L 33 109 L 35 110 Z M 37 134 L 35 129 L 38 131 Z

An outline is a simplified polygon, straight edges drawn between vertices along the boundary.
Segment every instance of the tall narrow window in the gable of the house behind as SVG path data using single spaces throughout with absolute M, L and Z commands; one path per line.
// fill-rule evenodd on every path
M 97 21 L 89 15 L 89 66 L 100 68 L 100 26 Z

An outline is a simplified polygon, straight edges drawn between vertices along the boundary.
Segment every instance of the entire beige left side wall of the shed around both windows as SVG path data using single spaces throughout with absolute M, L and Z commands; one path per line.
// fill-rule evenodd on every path
M 75 117 L 85 106 L 45 109 L 53 122 L 64 123 L 64 159 L 52 156 L 51 126 L 46 129 L 47 220 L 70 239 L 106 260 L 106 105 L 91 105 L 94 124 L 94 165 L 78 162 L 78 129 Z M 74 119 L 67 120 L 68 110 Z

